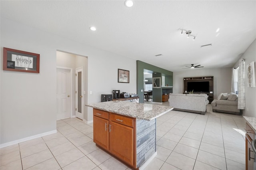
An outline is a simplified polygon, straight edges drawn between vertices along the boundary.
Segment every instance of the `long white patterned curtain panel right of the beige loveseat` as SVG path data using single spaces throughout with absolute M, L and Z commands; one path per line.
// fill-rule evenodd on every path
M 239 61 L 238 70 L 238 109 L 245 109 L 245 80 L 244 80 L 244 59 Z

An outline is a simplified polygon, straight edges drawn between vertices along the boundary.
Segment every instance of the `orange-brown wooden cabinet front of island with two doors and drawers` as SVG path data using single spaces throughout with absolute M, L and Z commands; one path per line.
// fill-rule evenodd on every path
M 93 110 L 93 141 L 126 164 L 136 167 L 136 119 Z

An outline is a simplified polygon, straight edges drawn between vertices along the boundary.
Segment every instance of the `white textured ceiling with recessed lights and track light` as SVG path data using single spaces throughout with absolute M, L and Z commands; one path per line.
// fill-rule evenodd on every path
M 204 66 L 197 69 L 232 67 L 256 39 L 255 0 L 144 0 L 131 8 L 124 0 L 1 0 L 0 8 L 1 17 L 170 71 L 194 63 Z

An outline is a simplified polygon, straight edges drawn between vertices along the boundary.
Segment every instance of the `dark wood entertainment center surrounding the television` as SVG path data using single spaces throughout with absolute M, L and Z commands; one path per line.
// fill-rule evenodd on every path
M 213 76 L 203 76 L 203 77 L 184 77 L 184 93 L 188 94 L 188 82 L 202 82 L 202 81 L 209 81 L 209 91 L 208 92 L 193 92 L 194 94 L 207 94 L 209 103 L 213 101 Z

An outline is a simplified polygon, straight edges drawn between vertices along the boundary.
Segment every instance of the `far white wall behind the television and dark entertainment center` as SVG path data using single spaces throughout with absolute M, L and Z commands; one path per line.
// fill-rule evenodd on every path
M 189 69 L 188 71 L 179 71 L 173 73 L 173 93 L 184 92 L 184 77 L 204 77 L 214 76 L 213 91 L 214 99 L 220 93 L 231 92 L 231 69 L 232 68 L 218 68 L 218 69 Z

